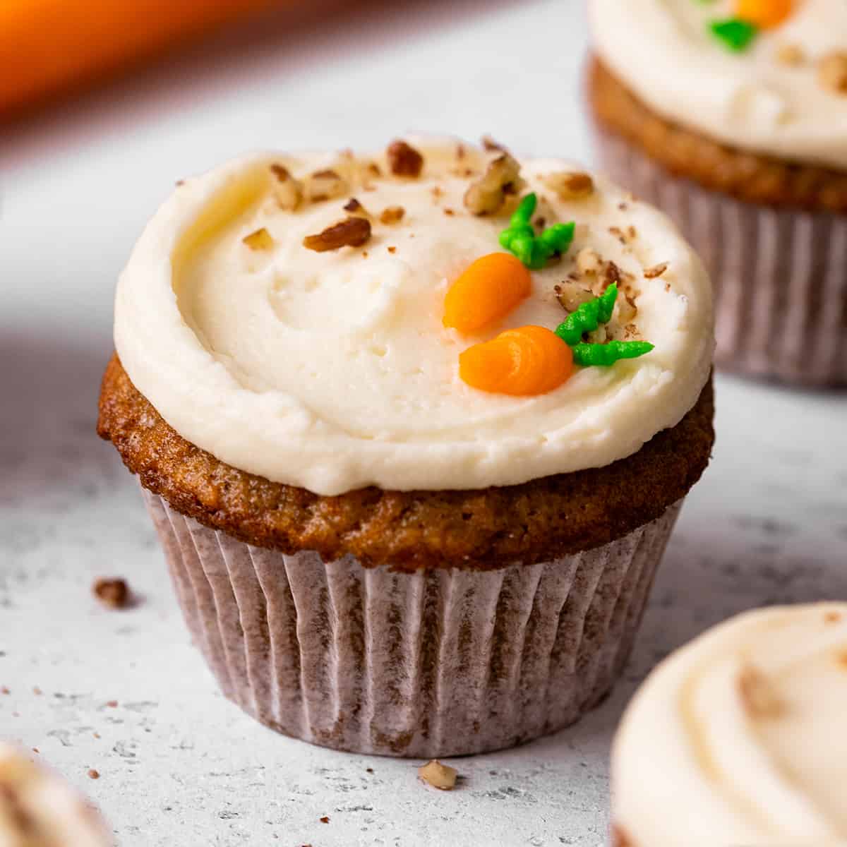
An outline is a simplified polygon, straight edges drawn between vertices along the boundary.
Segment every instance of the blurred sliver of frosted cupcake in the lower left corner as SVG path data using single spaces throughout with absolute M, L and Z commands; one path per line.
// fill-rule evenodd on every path
M 97 811 L 61 778 L 0 743 L 0 844 L 108 847 Z

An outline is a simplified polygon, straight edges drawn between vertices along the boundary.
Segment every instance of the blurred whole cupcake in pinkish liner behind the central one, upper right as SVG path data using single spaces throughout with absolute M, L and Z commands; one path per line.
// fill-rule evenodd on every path
M 847 4 L 589 6 L 603 167 L 703 257 L 717 364 L 847 385 Z

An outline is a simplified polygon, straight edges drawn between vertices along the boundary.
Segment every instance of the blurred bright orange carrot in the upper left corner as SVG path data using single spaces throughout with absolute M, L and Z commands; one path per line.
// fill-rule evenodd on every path
M 270 0 L 0 0 L 0 117 Z

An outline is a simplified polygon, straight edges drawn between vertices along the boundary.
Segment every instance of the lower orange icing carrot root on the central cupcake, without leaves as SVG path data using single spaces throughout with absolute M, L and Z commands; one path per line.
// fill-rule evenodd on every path
M 573 373 L 573 352 L 543 326 L 522 326 L 475 344 L 459 356 L 459 376 L 481 391 L 546 394 Z

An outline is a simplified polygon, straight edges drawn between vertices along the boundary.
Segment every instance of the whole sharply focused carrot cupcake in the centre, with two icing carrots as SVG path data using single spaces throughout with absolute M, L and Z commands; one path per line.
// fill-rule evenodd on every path
M 121 275 L 99 433 L 224 694 L 340 750 L 576 720 L 712 443 L 711 290 L 661 213 L 455 141 L 185 180 Z

